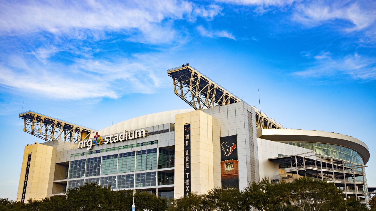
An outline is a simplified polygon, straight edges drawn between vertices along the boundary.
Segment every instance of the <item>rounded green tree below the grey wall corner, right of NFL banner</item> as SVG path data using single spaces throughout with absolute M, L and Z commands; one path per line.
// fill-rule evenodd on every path
M 279 209 L 286 201 L 282 197 L 283 184 L 274 184 L 268 177 L 262 178 L 259 182 L 249 183 L 244 189 L 245 206 L 247 210 L 251 207 L 259 210 L 273 211 Z

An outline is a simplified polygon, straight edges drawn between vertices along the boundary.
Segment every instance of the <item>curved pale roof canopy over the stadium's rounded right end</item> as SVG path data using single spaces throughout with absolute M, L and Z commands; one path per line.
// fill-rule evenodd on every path
M 315 130 L 257 129 L 257 137 L 275 142 L 327 143 L 353 149 L 363 157 L 364 164 L 370 159 L 368 146 L 359 139 L 339 133 Z

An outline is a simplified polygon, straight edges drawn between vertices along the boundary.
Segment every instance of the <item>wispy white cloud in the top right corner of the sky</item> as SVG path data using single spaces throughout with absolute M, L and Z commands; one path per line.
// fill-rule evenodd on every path
M 351 25 L 346 26 L 347 32 L 363 30 L 376 20 L 374 3 L 361 4 L 358 2 L 320 2 L 299 4 L 293 14 L 293 20 L 306 26 L 317 26 L 334 20 L 346 20 Z

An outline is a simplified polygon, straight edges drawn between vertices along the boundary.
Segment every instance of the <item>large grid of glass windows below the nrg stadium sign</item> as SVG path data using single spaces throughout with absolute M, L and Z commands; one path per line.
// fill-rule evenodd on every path
M 146 149 L 137 153 L 136 171 L 157 169 L 157 149 Z M 162 152 L 167 165 L 173 163 L 173 153 Z M 102 157 L 87 158 L 70 161 L 69 178 L 82 178 L 68 181 L 68 187 L 79 187 L 85 183 L 94 183 L 112 189 L 133 188 L 135 153 L 105 155 Z M 171 159 L 171 161 L 170 161 Z M 128 173 L 132 172 L 132 173 Z M 128 173 L 124 175 L 111 175 Z M 100 176 L 101 175 L 101 176 Z M 156 172 L 136 173 L 136 187 L 150 187 L 160 184 L 174 184 L 174 173 L 162 172 L 157 181 Z M 87 178 L 90 177 L 90 178 Z M 85 179 L 85 180 L 84 180 Z

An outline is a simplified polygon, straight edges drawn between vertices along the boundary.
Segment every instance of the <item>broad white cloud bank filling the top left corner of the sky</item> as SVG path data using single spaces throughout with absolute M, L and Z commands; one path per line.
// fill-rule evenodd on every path
M 216 5 L 201 6 L 184 0 L 125 3 L 96 0 L 77 3 L 8 1 L 2 2 L 1 7 L 0 34 L 3 35 L 46 31 L 55 35 L 65 33 L 75 36 L 75 39 L 85 39 L 87 33 L 90 33 L 87 30 L 112 30 L 122 31 L 133 37 L 141 34 L 141 41 L 152 44 L 179 39 L 175 37 L 177 33 L 169 21 L 184 18 L 196 20 L 197 17 L 212 20 L 221 11 Z M 94 33 L 92 36 L 95 35 L 97 34 Z

